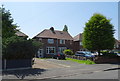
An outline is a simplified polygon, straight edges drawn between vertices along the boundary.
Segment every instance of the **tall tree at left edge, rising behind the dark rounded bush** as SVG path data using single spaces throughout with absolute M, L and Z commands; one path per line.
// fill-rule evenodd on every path
M 11 13 L 2 6 L 0 14 L 2 14 L 2 39 L 14 36 L 18 26 L 13 24 Z

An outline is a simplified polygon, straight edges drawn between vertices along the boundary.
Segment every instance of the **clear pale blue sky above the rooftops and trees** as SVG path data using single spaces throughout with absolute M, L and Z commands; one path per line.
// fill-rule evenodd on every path
M 115 38 L 118 39 L 118 3 L 117 2 L 5 2 L 14 23 L 30 38 L 44 29 L 54 27 L 63 30 L 68 26 L 74 37 L 83 32 L 85 23 L 94 13 L 101 13 L 112 19 Z

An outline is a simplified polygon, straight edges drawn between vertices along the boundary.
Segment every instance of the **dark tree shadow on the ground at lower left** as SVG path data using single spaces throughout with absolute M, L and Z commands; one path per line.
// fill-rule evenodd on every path
M 3 71 L 2 75 L 14 75 L 18 79 L 24 79 L 27 76 L 39 76 L 42 72 L 46 71 L 45 69 L 32 68 L 24 70 L 12 70 L 12 71 Z

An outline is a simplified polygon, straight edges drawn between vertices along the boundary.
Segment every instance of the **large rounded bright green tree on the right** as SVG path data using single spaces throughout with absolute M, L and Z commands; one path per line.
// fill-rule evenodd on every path
M 90 20 L 85 24 L 83 33 L 83 47 L 91 51 L 113 49 L 114 29 L 110 23 L 110 19 L 99 13 L 95 13 Z

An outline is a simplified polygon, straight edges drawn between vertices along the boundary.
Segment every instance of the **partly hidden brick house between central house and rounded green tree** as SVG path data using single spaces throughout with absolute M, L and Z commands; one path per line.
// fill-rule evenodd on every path
M 83 48 L 82 46 L 82 33 L 79 33 L 78 35 L 76 35 L 73 39 L 74 41 L 74 52 L 76 51 L 84 51 L 87 50 L 85 48 Z

